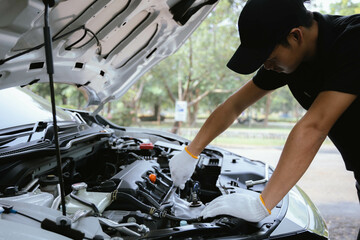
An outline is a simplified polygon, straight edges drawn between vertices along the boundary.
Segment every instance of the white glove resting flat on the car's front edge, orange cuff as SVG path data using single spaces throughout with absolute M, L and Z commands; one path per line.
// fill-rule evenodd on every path
M 261 195 L 256 192 L 222 195 L 212 200 L 201 212 L 204 218 L 231 215 L 248 222 L 259 222 L 270 214 Z

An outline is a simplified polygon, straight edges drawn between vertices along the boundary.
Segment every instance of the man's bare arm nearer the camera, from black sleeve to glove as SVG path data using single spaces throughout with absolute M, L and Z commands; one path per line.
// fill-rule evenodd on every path
M 356 97 L 335 91 L 318 95 L 290 132 L 279 163 L 262 192 L 268 209 L 275 207 L 305 173 L 331 127 Z

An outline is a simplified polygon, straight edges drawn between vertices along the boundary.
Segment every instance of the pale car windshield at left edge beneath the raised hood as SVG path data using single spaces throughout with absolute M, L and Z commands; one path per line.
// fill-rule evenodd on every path
M 52 122 L 51 104 L 21 88 L 8 88 L 0 91 L 0 129 L 33 124 L 39 121 Z M 73 121 L 70 114 L 56 109 L 58 121 Z

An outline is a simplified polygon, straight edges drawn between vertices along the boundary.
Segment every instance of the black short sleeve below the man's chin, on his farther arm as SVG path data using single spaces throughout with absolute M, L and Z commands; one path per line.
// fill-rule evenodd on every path
M 287 84 L 285 74 L 266 70 L 264 66 L 253 77 L 253 82 L 264 90 L 275 90 Z

